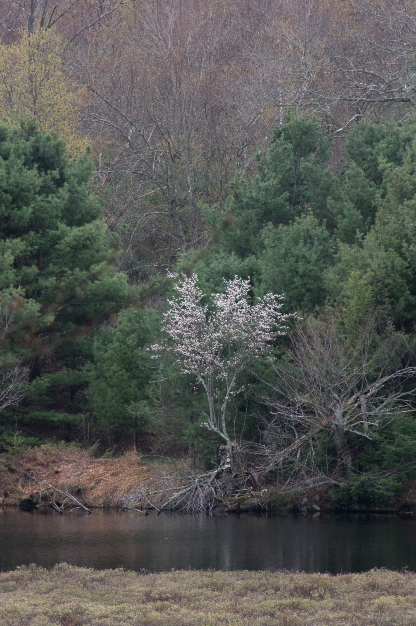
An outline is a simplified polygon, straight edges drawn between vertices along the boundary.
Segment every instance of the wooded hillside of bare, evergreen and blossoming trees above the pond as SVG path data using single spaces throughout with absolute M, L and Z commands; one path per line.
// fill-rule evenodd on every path
M 415 29 L 396 0 L 1 4 L 4 468 L 66 443 L 170 459 L 130 506 L 403 501 Z

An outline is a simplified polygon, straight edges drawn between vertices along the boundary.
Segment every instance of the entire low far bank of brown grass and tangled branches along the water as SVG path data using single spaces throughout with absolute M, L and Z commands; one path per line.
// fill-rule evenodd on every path
M 416 510 L 415 480 L 382 502 L 354 500 L 344 491 L 345 497 L 338 499 L 340 490 L 290 493 L 282 491 L 276 480 L 259 478 L 253 468 L 231 476 L 221 467 L 206 471 L 185 461 L 145 459 L 133 452 L 94 458 L 75 444 L 48 443 L 14 455 L 0 454 L 0 503 L 26 510 L 84 506 L 193 512 L 384 510 L 411 515 Z

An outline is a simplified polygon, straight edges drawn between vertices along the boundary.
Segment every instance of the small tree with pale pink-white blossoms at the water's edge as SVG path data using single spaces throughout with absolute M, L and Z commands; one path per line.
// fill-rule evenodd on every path
M 178 278 L 178 274 L 170 274 Z M 163 327 L 173 340 L 173 352 L 183 374 L 195 374 L 208 398 L 210 414 L 201 426 L 219 434 L 226 442 L 226 463 L 233 466 L 233 449 L 226 426 L 226 409 L 238 393 L 238 377 L 260 354 L 270 351 L 270 342 L 285 334 L 282 326 L 287 315 L 279 313 L 282 295 L 267 294 L 258 304 L 247 301 L 250 281 L 237 276 L 224 280 L 223 294 L 212 294 L 213 310 L 201 306 L 203 292 L 193 274 L 175 286 L 178 297 L 169 300 Z M 166 346 L 151 346 L 161 351 Z M 221 389 L 221 391 L 220 391 Z

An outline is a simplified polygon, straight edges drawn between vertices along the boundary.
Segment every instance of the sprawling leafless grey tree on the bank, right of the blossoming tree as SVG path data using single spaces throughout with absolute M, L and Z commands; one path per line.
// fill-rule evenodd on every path
M 273 396 L 264 399 L 273 416 L 263 441 L 265 472 L 300 461 L 301 451 L 326 432 L 338 456 L 335 475 L 348 473 L 350 433 L 372 439 L 412 410 L 406 383 L 416 367 L 400 364 L 397 334 L 380 337 L 376 331 L 373 319 L 353 338 L 340 327 L 338 316 L 295 324 L 288 361 L 275 366 Z M 321 474 L 312 457 L 308 463 L 310 472 Z

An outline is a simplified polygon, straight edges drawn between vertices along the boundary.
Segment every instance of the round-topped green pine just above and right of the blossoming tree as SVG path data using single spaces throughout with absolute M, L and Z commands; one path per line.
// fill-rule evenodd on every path
M 329 155 L 318 125 L 288 113 L 273 131 L 270 148 L 255 155 L 258 174 L 250 182 L 241 173 L 231 181 L 226 214 L 215 220 L 208 212 L 221 247 L 244 258 L 263 249 L 259 235 L 268 223 L 288 224 L 304 212 L 330 218 L 332 177 L 324 167 Z

